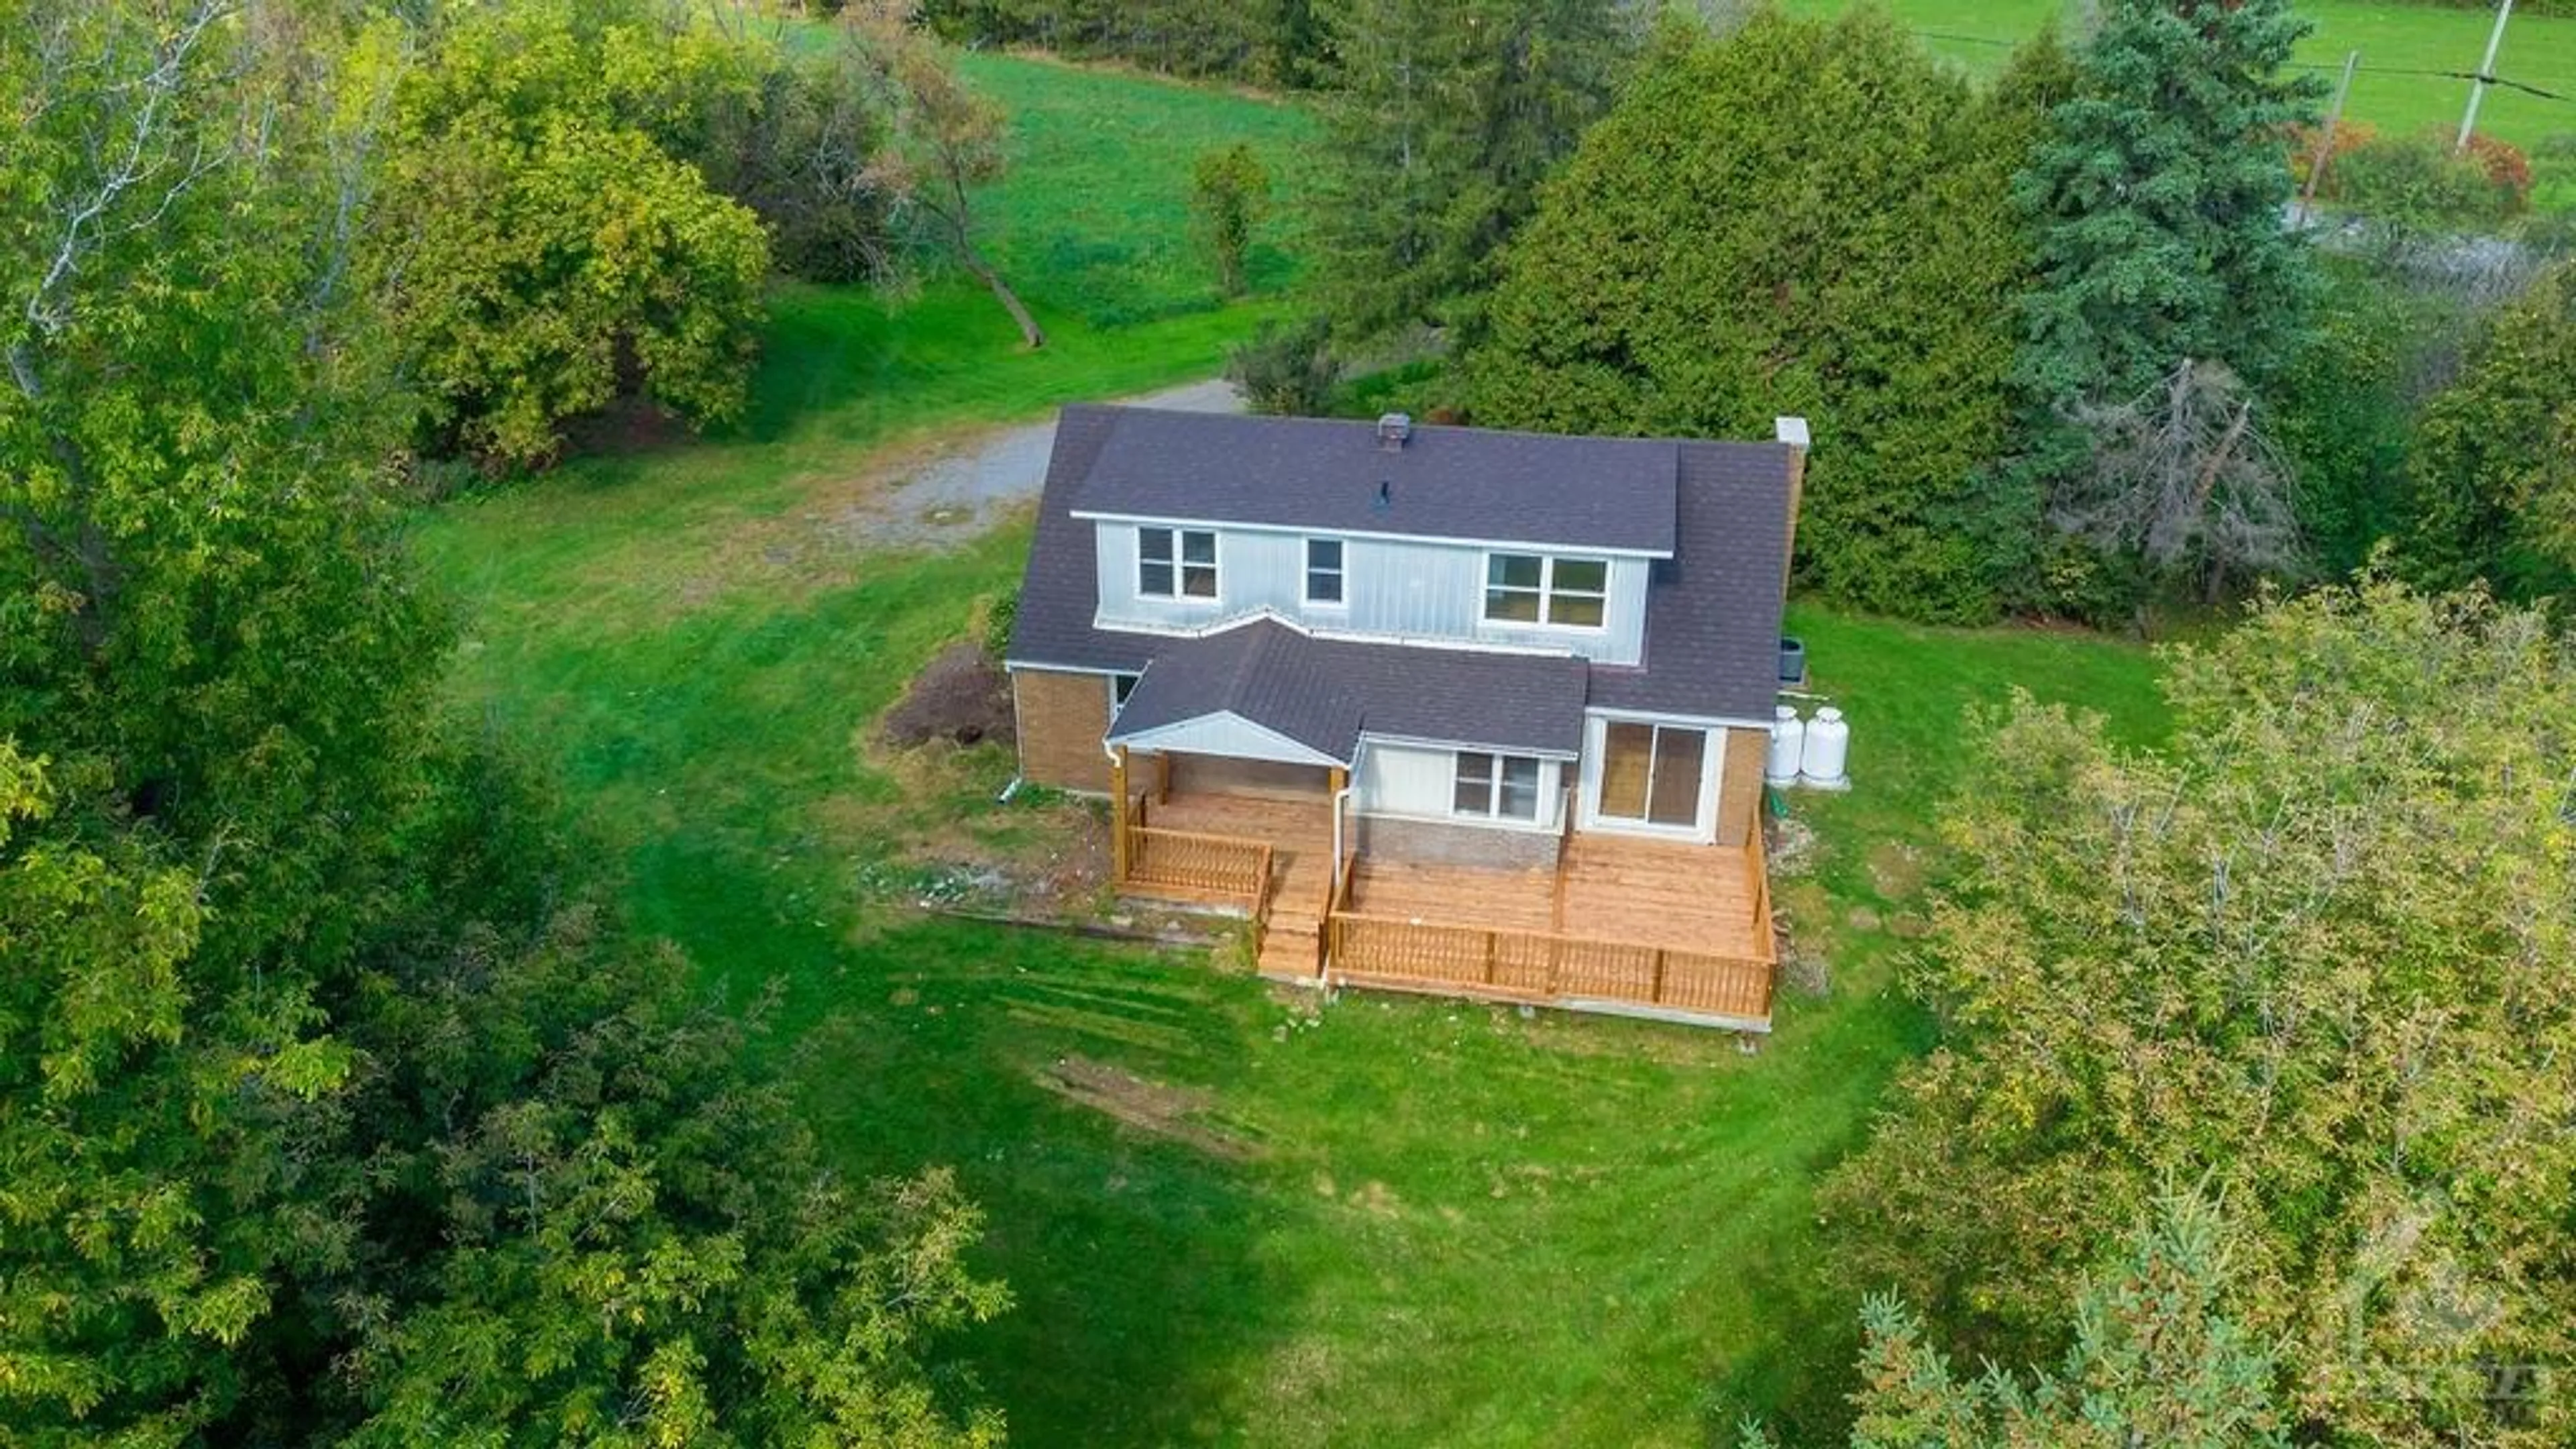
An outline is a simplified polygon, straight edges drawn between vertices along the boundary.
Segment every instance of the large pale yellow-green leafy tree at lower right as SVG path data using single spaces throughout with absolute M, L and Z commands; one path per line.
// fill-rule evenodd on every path
M 1950 807 L 1940 1047 L 1829 1189 L 1865 1281 L 2043 1356 L 2164 1181 L 2244 1235 L 2226 1312 L 2354 1444 L 2558 1444 L 2576 1395 L 2576 657 L 2398 585 L 2174 650 L 2174 740 L 2020 701 Z

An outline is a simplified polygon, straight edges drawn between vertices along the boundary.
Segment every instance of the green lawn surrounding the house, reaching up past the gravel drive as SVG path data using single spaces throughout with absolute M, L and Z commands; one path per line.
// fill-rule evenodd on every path
M 1018 575 L 1025 523 L 956 552 L 835 541 L 889 454 L 1066 397 L 1216 369 L 1275 307 L 1211 307 L 1175 242 L 1185 157 L 1260 101 L 976 59 L 1028 168 L 992 196 L 1056 333 L 981 294 L 788 289 L 739 436 L 587 459 L 422 513 L 469 616 L 461 701 L 544 750 L 616 846 L 634 918 L 708 982 L 783 982 L 781 1049 L 853 1173 L 953 1163 L 1018 1310 L 961 1343 L 1020 1444 L 1705 1444 L 1741 1410 L 1837 1415 L 1857 1287 L 1814 1227 L 1922 1016 L 1891 990 L 1963 786 L 1963 712 L 2027 686 L 2156 740 L 2141 650 L 1801 608 L 1855 719 L 1855 779 L 1795 802 L 1780 882 L 1832 993 L 1744 1055 L 1687 1029 L 1432 1000 L 1316 1011 L 1203 954 L 914 915 L 912 861 L 1030 841 L 994 748 L 886 755 L 871 719 Z M 1293 235 L 1265 281 L 1293 278 Z M 1131 1073 L 1141 1132 L 1048 1088 Z

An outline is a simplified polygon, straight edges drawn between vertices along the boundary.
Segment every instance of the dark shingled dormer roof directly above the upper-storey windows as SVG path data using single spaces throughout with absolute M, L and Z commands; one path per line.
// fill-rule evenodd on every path
M 1654 438 L 1417 423 L 1386 449 L 1376 423 L 1128 407 L 1087 474 L 1084 513 L 1643 554 L 1674 539 L 1677 443 Z

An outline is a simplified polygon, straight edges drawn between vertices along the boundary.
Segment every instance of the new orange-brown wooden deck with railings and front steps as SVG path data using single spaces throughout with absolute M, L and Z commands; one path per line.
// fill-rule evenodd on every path
M 1267 977 L 1770 1029 L 1759 841 L 1571 833 L 1553 871 L 1358 859 L 1334 900 L 1329 799 L 1139 797 L 1131 817 L 1123 890 L 1244 910 Z

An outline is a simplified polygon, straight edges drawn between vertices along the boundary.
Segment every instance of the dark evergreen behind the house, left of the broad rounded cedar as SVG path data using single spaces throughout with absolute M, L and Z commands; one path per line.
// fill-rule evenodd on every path
M 1342 335 L 1468 320 L 1638 41 L 1613 0 L 1329 0 L 1332 165 L 1316 206 Z

